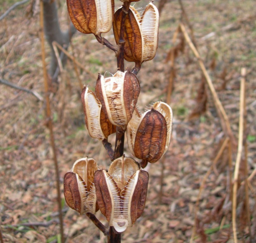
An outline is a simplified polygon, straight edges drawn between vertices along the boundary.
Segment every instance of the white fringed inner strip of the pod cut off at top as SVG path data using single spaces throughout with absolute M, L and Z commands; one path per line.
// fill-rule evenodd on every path
M 97 11 L 96 33 L 107 33 L 112 27 L 111 0 L 95 0 Z

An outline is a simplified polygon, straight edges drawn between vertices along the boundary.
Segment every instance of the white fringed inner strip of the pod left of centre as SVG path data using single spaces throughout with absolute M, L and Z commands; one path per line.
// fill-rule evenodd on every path
M 105 137 L 100 126 L 100 102 L 91 91 L 87 91 L 84 93 L 84 103 L 86 106 L 86 119 L 90 136 L 103 140 Z

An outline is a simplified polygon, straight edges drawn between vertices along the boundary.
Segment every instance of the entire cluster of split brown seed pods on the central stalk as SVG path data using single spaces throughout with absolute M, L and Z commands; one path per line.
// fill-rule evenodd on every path
M 144 12 L 138 12 L 129 5 L 139 0 L 121 0 L 123 7 L 114 14 L 114 0 L 66 1 L 71 21 L 78 31 L 93 33 L 99 42 L 115 51 L 120 67 L 123 68 L 123 59 L 135 62 L 132 71 L 137 73 L 143 62 L 154 58 L 158 47 L 159 13 L 153 3 L 149 3 Z M 117 46 L 101 37 L 112 24 Z M 77 160 L 64 177 L 68 206 L 81 215 L 95 214 L 99 209 L 117 233 L 132 226 L 141 216 L 148 186 L 148 173 L 142 168 L 163 156 L 172 132 L 172 109 L 164 102 L 154 103 L 143 115 L 138 113 L 140 83 L 134 73 L 118 70 L 106 78 L 99 74 L 95 93 L 84 86 L 81 99 L 85 125 L 91 137 L 103 141 L 113 161 L 108 170 L 104 170 L 86 156 Z M 128 147 L 142 160 L 140 164 L 124 155 L 116 158 L 123 153 L 125 131 Z M 108 137 L 115 132 L 113 151 Z

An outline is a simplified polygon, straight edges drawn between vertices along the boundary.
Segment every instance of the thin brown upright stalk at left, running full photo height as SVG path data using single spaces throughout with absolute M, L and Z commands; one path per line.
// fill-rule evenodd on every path
M 45 99 L 46 99 L 46 117 L 47 117 L 47 126 L 50 131 L 50 143 L 53 149 L 53 161 L 54 161 L 55 174 L 56 174 L 55 180 L 56 180 L 56 186 L 57 186 L 57 192 L 58 192 L 60 235 L 61 235 L 61 242 L 64 243 L 63 219 L 62 219 L 62 211 L 61 211 L 61 197 L 60 197 L 60 185 L 59 185 L 59 167 L 57 162 L 56 148 L 55 148 L 54 135 L 53 135 L 53 122 L 51 119 L 49 88 L 48 88 L 48 82 L 47 82 L 47 70 L 46 70 L 46 63 L 45 63 L 43 16 L 44 16 L 44 9 L 43 9 L 43 2 L 41 1 L 40 2 L 40 28 L 41 28 L 41 51 L 42 51 L 42 63 L 43 63 L 43 75 L 44 75 L 44 89 L 45 89 Z

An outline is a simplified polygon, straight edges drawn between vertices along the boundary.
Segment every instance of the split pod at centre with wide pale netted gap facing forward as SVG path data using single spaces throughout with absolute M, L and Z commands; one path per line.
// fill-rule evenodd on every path
M 95 92 L 109 121 L 113 125 L 126 127 L 140 93 L 137 77 L 129 70 L 117 71 L 109 78 L 99 74 Z

